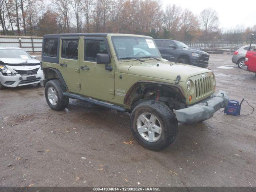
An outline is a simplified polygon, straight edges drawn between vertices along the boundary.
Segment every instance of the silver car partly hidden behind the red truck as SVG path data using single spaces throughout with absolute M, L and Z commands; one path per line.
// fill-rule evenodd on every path
M 239 48 L 234 52 L 234 55 L 232 57 L 232 62 L 237 64 L 238 67 L 241 69 L 242 65 L 244 65 L 244 58 L 246 55 L 246 52 L 248 51 L 250 45 L 245 45 Z M 256 44 L 252 44 L 252 49 L 256 47 Z

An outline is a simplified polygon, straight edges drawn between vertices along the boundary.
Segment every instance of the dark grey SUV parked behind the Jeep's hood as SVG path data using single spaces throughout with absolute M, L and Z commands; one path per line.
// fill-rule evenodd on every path
M 184 64 L 206 68 L 209 55 L 201 50 L 190 49 L 186 44 L 169 39 L 155 39 L 162 58 Z

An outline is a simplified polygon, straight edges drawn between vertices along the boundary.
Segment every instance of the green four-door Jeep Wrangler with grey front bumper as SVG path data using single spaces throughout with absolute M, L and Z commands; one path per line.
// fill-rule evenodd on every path
M 136 140 L 150 150 L 174 142 L 178 122 L 204 121 L 228 104 L 214 95 L 208 69 L 161 58 L 151 37 L 132 34 L 50 34 L 43 38 L 45 97 L 53 110 L 69 98 L 128 111 Z

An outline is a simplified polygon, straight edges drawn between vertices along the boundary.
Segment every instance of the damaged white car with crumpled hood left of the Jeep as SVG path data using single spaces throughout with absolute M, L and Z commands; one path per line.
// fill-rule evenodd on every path
M 0 47 L 0 89 L 40 83 L 40 61 L 17 47 Z

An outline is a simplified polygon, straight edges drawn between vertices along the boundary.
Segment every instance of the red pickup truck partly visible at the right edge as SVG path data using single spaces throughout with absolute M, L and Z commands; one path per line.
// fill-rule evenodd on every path
M 252 41 L 256 39 L 256 34 L 252 34 Z M 251 47 L 250 44 L 250 47 Z M 244 60 L 244 65 L 242 65 L 242 69 L 246 71 L 250 71 L 255 73 L 256 76 L 256 48 L 250 49 L 246 52 L 245 60 Z

